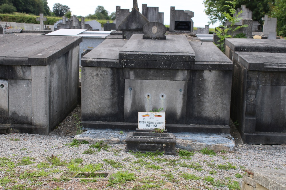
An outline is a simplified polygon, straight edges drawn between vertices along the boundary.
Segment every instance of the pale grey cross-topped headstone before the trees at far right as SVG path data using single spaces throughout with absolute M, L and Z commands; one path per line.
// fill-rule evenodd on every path
M 268 39 L 276 39 L 277 18 L 268 18 L 268 15 L 265 15 L 262 20 L 264 21 L 263 35 Z

